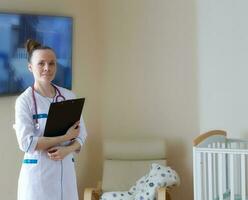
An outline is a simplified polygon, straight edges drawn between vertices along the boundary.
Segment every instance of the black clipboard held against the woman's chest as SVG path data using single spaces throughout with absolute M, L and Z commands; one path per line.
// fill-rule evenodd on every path
M 67 130 L 80 120 L 85 98 L 51 103 L 45 126 L 45 137 L 66 134 Z

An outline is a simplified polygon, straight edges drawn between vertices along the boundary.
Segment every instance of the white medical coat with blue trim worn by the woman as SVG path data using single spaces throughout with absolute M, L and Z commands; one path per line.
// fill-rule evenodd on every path
M 71 91 L 58 88 L 66 99 L 75 98 Z M 31 87 L 17 98 L 15 106 L 14 127 L 19 147 L 25 152 L 18 181 L 18 200 L 78 200 L 73 155 L 69 154 L 61 161 L 53 161 L 46 151 L 35 150 L 38 138 L 43 135 L 52 101 L 37 92 L 35 97 L 37 113 L 41 114 L 38 130 L 33 120 L 35 107 Z M 83 145 L 86 135 L 84 121 L 81 119 L 80 135 L 76 140 Z

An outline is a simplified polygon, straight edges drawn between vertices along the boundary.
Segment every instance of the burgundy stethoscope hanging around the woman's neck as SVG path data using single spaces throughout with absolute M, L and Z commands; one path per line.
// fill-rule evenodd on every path
M 60 101 L 65 101 L 65 97 L 61 94 L 61 92 L 59 91 L 59 88 L 57 88 L 57 86 L 55 86 L 54 84 L 52 84 L 52 86 L 55 89 L 55 99 L 53 98 L 53 102 L 60 102 Z M 34 94 L 34 85 L 32 86 L 32 97 L 33 97 L 33 102 L 34 102 L 34 109 L 35 109 L 35 128 L 37 130 L 40 129 L 40 124 L 38 121 L 38 111 L 37 111 L 37 102 L 36 102 L 36 98 L 35 98 L 35 94 Z M 54 101 L 55 100 L 55 101 Z

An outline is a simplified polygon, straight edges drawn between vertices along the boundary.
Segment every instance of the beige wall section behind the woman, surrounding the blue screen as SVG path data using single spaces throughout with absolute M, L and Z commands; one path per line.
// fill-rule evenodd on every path
M 1 0 L 1 11 L 68 15 L 74 19 L 73 90 L 86 97 L 84 118 L 88 130 L 87 144 L 77 156 L 76 168 L 80 194 L 85 185 L 93 185 L 100 177 L 101 134 L 99 130 L 99 63 L 97 4 L 93 0 Z M 97 59 L 96 59 L 97 58 Z M 0 97 L 0 199 L 15 200 L 22 153 L 17 147 L 14 122 L 16 96 Z M 92 159 L 94 158 L 94 159 Z M 92 172 L 92 173 L 91 173 Z

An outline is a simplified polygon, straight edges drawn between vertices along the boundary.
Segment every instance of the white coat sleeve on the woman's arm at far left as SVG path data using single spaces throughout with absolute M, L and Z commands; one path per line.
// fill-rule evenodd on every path
M 20 149 L 24 152 L 34 152 L 38 137 L 34 133 L 33 114 L 24 98 L 16 100 L 14 128 Z

